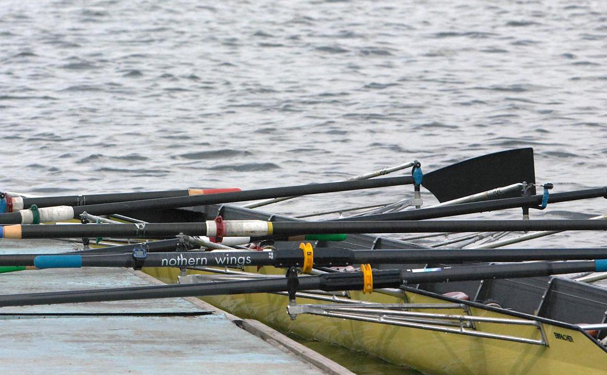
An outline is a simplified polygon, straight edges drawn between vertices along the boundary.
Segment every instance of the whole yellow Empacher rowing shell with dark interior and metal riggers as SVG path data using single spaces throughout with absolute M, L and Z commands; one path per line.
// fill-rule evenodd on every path
M 138 214 L 149 221 L 171 216 L 189 221 L 267 220 L 268 213 L 230 205 L 193 207 Z M 273 216 L 274 221 L 294 220 Z M 277 243 L 287 245 L 287 243 Z M 293 247 L 293 243 L 288 244 Z M 351 235 L 328 247 L 399 248 L 406 245 L 377 236 Z M 407 265 L 421 268 L 424 265 Z M 175 282 L 175 268 L 144 268 L 165 282 Z M 274 267 L 245 267 L 247 274 L 284 274 Z M 196 282 L 206 271 L 189 270 L 181 282 Z M 259 277 L 259 276 L 257 276 Z M 446 294 L 447 293 L 447 294 Z M 430 374 L 600 374 L 607 371 L 605 330 L 583 324 L 604 323 L 607 291 L 562 278 L 484 280 L 410 285 L 349 296 L 300 293 L 285 313 L 288 297 L 237 294 L 203 298 L 245 319 L 257 319 L 299 336 L 337 343 Z M 468 297 L 470 300 L 466 300 Z M 483 302 L 471 302 L 474 300 Z M 333 300 L 333 302 L 330 302 Z M 338 301 L 338 302 L 336 302 Z M 603 327 L 599 327 L 603 328 Z

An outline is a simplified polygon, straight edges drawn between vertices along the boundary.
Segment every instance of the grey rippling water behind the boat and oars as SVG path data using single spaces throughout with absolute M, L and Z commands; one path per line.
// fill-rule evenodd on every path
M 606 11 L 602 1 L 5 0 L 0 187 L 259 188 L 529 146 L 553 191 L 607 185 Z M 401 195 L 328 194 L 273 210 Z M 601 240 L 566 233 L 526 246 Z

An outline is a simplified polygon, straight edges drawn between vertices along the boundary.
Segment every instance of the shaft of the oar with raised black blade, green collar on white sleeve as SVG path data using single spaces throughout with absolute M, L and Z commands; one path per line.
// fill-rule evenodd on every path
M 191 207 L 196 205 L 223 204 L 229 202 L 253 201 L 283 196 L 298 196 L 308 194 L 333 193 L 336 191 L 361 190 L 388 186 L 413 184 L 412 176 L 390 177 L 361 181 L 328 182 L 327 184 L 297 185 L 290 187 L 265 188 L 229 193 L 180 196 L 141 201 L 114 202 L 105 204 L 84 205 L 78 207 L 57 206 L 36 210 L 21 210 L 19 212 L 0 215 L 0 224 L 32 224 L 33 216 L 39 216 L 39 222 L 54 222 L 77 219 L 86 211 L 93 215 L 128 213 L 142 210 L 164 210 L 168 208 Z

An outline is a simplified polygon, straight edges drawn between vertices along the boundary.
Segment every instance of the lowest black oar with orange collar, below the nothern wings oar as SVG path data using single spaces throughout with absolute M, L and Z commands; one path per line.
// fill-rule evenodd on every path
M 271 279 L 206 282 L 200 284 L 154 285 L 149 287 L 108 288 L 0 295 L 0 307 L 71 304 L 111 300 L 200 297 L 222 294 L 273 293 L 297 290 L 366 290 L 398 288 L 403 284 L 483 280 L 497 278 L 548 276 L 607 270 L 607 260 L 572 262 L 531 262 L 517 264 L 476 265 L 423 270 L 381 270 L 352 273 L 326 273 L 320 276 L 277 277 Z M 365 276 L 367 276 L 365 278 Z M 366 280 L 365 280 L 366 279 Z

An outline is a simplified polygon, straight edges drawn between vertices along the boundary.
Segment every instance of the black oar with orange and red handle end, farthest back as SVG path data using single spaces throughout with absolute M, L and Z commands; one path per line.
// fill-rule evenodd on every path
M 30 208 L 32 207 L 32 205 L 36 205 L 36 207 L 38 208 L 53 206 L 84 206 L 110 202 L 141 201 L 141 199 L 157 199 L 200 194 L 228 193 L 229 191 L 240 191 L 240 189 L 185 189 L 164 191 L 138 191 L 134 193 L 66 195 L 50 197 L 20 197 L 6 195 L 4 199 L 6 202 L 6 212 L 15 212 L 23 210 L 24 208 Z

